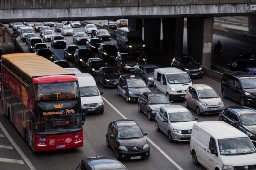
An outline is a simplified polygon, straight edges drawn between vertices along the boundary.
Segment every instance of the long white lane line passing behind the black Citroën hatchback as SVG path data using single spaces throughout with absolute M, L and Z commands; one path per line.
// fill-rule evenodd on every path
M 101 96 L 102 97 L 102 96 Z M 102 97 L 103 100 L 105 100 L 105 102 L 110 105 L 123 119 L 127 119 L 121 112 L 119 112 L 119 110 L 117 110 L 117 108 L 115 108 L 115 106 L 113 106 L 106 98 Z M 167 158 L 176 168 L 178 168 L 179 170 L 183 170 L 173 159 L 171 159 L 159 146 L 157 146 L 157 144 L 155 144 L 149 137 L 146 137 L 146 139 L 149 141 L 149 143 L 151 143 L 151 145 L 153 145 L 156 149 L 158 149 L 158 151 L 160 151 L 160 153 Z

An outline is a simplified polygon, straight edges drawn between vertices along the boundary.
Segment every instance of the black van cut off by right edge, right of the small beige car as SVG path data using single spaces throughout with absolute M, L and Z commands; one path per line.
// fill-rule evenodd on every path
M 256 105 L 256 75 L 245 72 L 224 73 L 221 91 L 223 98 L 232 98 L 241 106 Z

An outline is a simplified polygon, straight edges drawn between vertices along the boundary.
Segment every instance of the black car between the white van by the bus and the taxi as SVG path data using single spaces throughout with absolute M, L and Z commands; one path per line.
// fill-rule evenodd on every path
M 96 81 L 103 87 L 116 87 L 121 73 L 116 67 L 101 67 L 97 73 Z

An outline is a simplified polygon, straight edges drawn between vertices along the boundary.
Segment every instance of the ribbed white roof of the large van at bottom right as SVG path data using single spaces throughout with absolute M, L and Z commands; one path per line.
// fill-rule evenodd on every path
M 227 138 L 239 138 L 248 136 L 242 131 L 235 127 L 225 123 L 224 121 L 201 121 L 194 124 L 204 131 L 208 132 L 209 135 L 216 137 L 217 139 Z

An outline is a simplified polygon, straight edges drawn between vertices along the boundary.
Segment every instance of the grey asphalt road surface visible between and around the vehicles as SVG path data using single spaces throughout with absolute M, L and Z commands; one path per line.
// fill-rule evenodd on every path
M 82 32 L 84 28 L 74 28 L 75 32 Z M 39 33 L 37 33 L 39 36 Z M 67 45 L 73 44 L 72 36 L 65 37 L 67 40 Z M 228 38 L 224 38 L 223 42 L 227 44 L 235 44 L 236 41 Z M 17 39 L 18 43 L 28 52 L 28 47 L 26 43 L 21 42 L 20 39 Z M 107 42 L 109 43 L 109 42 Z M 114 43 L 114 40 L 111 40 L 110 43 Z M 53 49 L 49 42 L 46 44 L 50 47 L 52 51 L 55 52 L 56 60 L 63 60 L 63 50 L 64 49 Z M 80 47 L 85 47 L 80 46 Z M 232 51 L 231 51 L 232 52 Z M 71 62 L 71 65 L 75 66 Z M 219 82 L 213 81 L 207 77 L 202 79 L 195 79 L 194 84 L 207 84 L 213 87 L 218 93 L 221 93 L 221 86 Z M 125 99 L 118 97 L 116 95 L 116 89 L 104 89 L 100 84 L 98 88 L 104 91 L 104 104 L 105 112 L 104 114 L 87 114 L 86 121 L 84 124 L 84 147 L 72 149 L 72 150 L 63 150 L 63 151 L 53 151 L 45 153 L 35 153 L 32 149 L 27 146 L 23 138 L 19 135 L 18 131 L 12 126 L 8 119 L 4 116 L 2 111 L 0 111 L 0 122 L 3 124 L 5 129 L 8 131 L 10 136 L 16 142 L 17 146 L 24 152 L 26 157 L 30 160 L 32 165 L 37 170 L 73 170 L 75 166 L 78 165 L 79 161 L 82 158 L 96 155 L 106 155 L 114 157 L 114 152 L 107 148 L 106 146 L 106 130 L 110 121 L 115 119 L 122 119 L 119 112 L 122 113 L 128 119 L 135 120 L 144 132 L 148 132 L 147 137 L 154 143 L 150 143 L 151 155 L 149 159 L 137 160 L 137 161 L 121 161 L 128 170 L 176 170 L 178 169 L 171 160 L 175 161 L 182 169 L 184 170 L 205 170 L 201 166 L 195 166 L 192 163 L 192 156 L 189 153 L 189 142 L 174 142 L 169 143 L 168 138 L 161 132 L 155 130 L 154 121 L 149 121 L 147 116 L 139 113 L 137 110 L 136 103 L 126 103 Z M 153 88 L 150 87 L 153 91 Z M 224 107 L 238 105 L 230 99 L 223 99 Z M 110 104 L 108 104 L 110 103 Z M 174 102 L 173 104 L 183 105 L 183 102 Z M 197 117 L 196 113 L 191 110 L 193 116 Z M 200 116 L 198 121 L 213 121 L 218 120 L 218 115 L 204 115 Z M 0 132 L 1 133 L 1 132 Z M 1 138 L 0 138 L 1 142 Z M 0 143 L 1 145 L 1 143 Z M 1 150 L 0 150 L 1 153 Z M 1 155 L 0 157 L 10 157 L 9 152 Z M 166 156 L 166 155 L 167 156 Z M 164 156 L 165 155 L 165 156 Z M 16 155 L 19 156 L 19 155 Z M 15 158 L 13 158 L 15 159 Z M 171 159 L 171 160 L 170 160 Z M 8 164 L 9 166 L 4 166 Z M 26 166 L 26 163 L 24 163 Z M 16 169 L 16 163 L 5 163 L 0 162 L 0 170 Z M 26 169 L 28 167 L 25 167 Z M 21 168 L 22 169 L 22 168 Z

